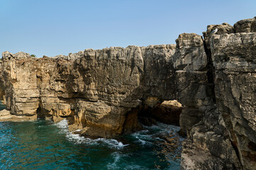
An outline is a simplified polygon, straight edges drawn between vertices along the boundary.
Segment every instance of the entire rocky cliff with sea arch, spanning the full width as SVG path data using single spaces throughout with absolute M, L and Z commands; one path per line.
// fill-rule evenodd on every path
M 254 32 L 255 18 L 208 26 L 204 38 L 183 33 L 176 45 L 43 58 L 4 52 L 0 99 L 13 115 L 67 118 L 90 137 L 134 132 L 151 118 L 179 124 L 188 136 L 181 169 L 255 169 Z

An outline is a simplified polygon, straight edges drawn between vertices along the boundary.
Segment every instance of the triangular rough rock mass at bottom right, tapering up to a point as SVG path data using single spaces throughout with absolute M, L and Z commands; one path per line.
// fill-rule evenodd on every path
M 194 164 L 191 169 L 242 169 L 216 108 L 206 111 L 203 119 L 193 125 L 189 139 L 183 143 L 183 154 L 183 167 L 190 166 L 189 160 Z

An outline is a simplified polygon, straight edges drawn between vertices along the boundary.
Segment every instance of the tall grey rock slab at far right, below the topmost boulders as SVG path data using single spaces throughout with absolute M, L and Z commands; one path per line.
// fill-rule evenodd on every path
M 252 169 L 256 167 L 256 33 L 213 35 L 211 50 L 218 110 L 243 167 Z

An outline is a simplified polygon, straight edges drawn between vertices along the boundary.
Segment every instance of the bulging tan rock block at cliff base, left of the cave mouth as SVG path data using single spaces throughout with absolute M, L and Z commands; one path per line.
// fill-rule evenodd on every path
M 121 134 L 125 108 L 111 107 L 101 102 L 79 101 L 75 120 L 82 126 L 82 135 L 112 137 Z

